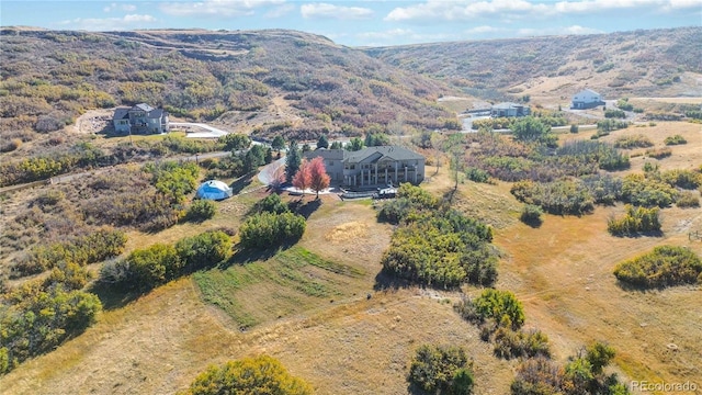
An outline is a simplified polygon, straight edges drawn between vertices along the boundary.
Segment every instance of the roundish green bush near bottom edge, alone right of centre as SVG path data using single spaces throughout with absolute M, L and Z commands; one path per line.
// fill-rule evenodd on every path
M 472 365 L 463 348 L 423 345 L 412 358 L 407 381 L 429 394 L 468 395 Z

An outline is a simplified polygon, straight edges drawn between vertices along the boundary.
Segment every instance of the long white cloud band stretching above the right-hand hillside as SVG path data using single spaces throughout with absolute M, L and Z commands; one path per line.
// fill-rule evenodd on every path
M 392 10 L 385 21 L 468 21 L 477 18 L 526 19 L 602 11 L 668 11 L 700 9 L 700 0 L 427 0 Z

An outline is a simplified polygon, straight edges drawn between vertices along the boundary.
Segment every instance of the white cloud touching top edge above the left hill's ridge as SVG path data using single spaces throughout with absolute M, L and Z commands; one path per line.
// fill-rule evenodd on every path
M 281 5 L 285 0 L 204 0 L 197 2 L 161 2 L 161 12 L 176 16 L 242 16 L 257 8 Z

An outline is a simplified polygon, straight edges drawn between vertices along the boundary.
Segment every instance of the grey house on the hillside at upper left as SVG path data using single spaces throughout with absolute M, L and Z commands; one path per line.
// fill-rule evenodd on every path
M 116 133 L 166 133 L 168 132 L 168 113 L 141 103 L 133 108 L 117 108 L 114 111 L 113 123 Z

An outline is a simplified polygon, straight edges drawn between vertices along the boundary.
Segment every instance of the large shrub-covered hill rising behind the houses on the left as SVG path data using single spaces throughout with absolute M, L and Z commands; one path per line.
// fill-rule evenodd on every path
M 263 136 L 443 127 L 442 82 L 301 32 L 2 30 L 0 131 L 30 140 L 88 109 L 147 102 Z M 453 123 L 452 125 L 457 125 Z

